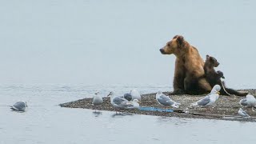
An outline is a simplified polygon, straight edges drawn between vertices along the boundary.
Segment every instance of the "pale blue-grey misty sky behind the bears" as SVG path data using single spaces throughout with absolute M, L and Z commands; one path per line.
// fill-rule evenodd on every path
M 2 1 L 1 83 L 170 84 L 176 34 L 256 86 L 254 1 Z

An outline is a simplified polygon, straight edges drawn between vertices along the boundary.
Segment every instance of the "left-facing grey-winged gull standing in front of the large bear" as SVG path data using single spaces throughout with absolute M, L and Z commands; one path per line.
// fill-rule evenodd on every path
M 160 90 L 158 91 L 157 94 L 155 94 L 155 98 L 160 105 L 165 106 L 165 111 L 166 111 L 166 106 L 173 106 L 175 108 L 178 108 L 179 105 L 181 105 L 178 102 L 174 102 L 172 99 L 170 99 L 165 94 L 162 94 L 162 91 L 160 91 Z

